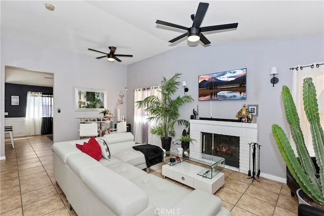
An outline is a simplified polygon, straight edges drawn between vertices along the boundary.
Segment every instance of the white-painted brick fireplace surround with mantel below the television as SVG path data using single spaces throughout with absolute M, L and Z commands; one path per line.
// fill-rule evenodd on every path
M 201 149 L 203 149 L 203 145 L 202 145 L 203 133 L 239 137 L 238 168 L 230 165 L 225 165 L 225 167 L 245 174 L 248 173 L 249 143 L 258 142 L 257 123 L 241 123 L 241 122 L 229 122 L 229 121 L 191 119 L 190 137 L 192 139 L 195 139 L 197 142 L 194 142 L 194 145 L 190 144 L 190 151 L 201 152 Z

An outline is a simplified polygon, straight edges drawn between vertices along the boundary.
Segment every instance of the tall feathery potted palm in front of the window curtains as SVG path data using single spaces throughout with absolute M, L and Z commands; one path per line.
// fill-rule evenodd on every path
M 181 73 L 176 73 L 170 79 L 163 77 L 164 84 L 158 90 L 161 97 L 152 95 L 136 102 L 137 108 L 145 108 L 144 110 L 149 113 L 150 117 L 147 120 L 156 123 L 156 126 L 151 127 L 150 133 L 161 138 L 162 147 L 167 151 L 170 150 L 171 139 L 175 136 L 175 124 L 188 125 L 187 120 L 179 119 L 180 107 L 193 101 L 189 95 L 173 97 L 180 85 L 180 81 L 177 81 L 180 75 Z

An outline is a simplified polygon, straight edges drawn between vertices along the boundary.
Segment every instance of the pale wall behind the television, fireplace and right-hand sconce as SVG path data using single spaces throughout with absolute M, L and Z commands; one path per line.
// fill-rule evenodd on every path
M 258 104 L 260 169 L 264 174 L 286 178 L 286 166 L 271 134 L 271 125 L 277 123 L 289 131 L 282 110 L 281 87 L 292 86 L 292 70 L 298 64 L 324 62 L 324 39 L 312 37 L 269 41 L 236 42 L 210 47 L 185 47 L 156 55 L 128 66 L 129 90 L 160 84 L 161 77 L 171 77 L 180 72 L 180 81 L 186 81 L 189 95 L 195 101 L 181 109 L 181 117 L 189 119 L 192 109 L 199 106 L 199 117 L 210 117 L 209 101 L 198 102 L 198 75 L 225 70 L 247 68 L 247 100 L 213 101 L 214 118 L 234 119 L 243 104 Z M 279 82 L 272 87 L 269 75 L 271 67 L 278 68 Z M 143 78 L 145 77 L 145 79 Z M 178 94 L 184 94 L 180 87 Z M 134 92 L 128 91 L 128 122 L 133 124 Z M 178 128 L 179 139 L 182 128 Z

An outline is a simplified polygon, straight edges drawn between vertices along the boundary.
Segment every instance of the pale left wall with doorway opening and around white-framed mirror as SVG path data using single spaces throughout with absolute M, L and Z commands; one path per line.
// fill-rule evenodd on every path
M 88 49 L 88 48 L 84 48 Z M 39 45 L 18 38 L 1 36 L 1 148 L 4 156 L 5 66 L 54 73 L 54 142 L 78 139 L 76 117 L 98 116 L 99 111 L 75 112 L 74 88 L 107 90 L 107 109 L 116 114 L 119 92 L 125 94 L 120 114 L 126 114 L 127 66 L 90 56 Z M 61 109 L 61 113 L 57 109 Z M 102 114 L 101 114 L 102 115 Z

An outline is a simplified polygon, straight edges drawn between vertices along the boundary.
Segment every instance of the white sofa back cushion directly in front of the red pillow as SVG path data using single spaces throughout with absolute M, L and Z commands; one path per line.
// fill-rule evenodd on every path
M 89 168 L 102 166 L 97 160 L 82 152 L 69 155 L 66 158 L 66 163 L 78 177 L 81 177 L 82 172 Z

